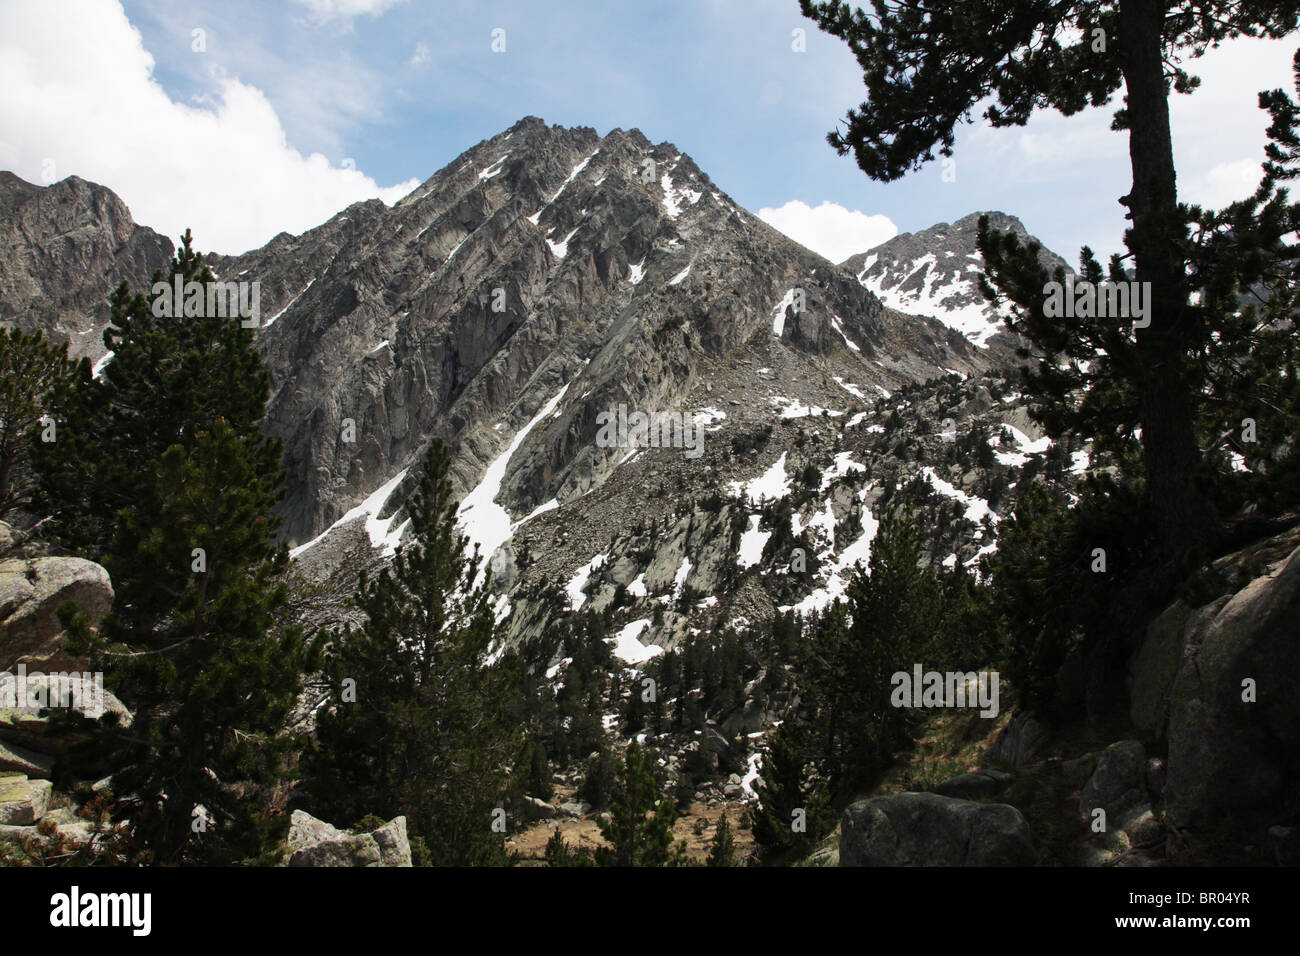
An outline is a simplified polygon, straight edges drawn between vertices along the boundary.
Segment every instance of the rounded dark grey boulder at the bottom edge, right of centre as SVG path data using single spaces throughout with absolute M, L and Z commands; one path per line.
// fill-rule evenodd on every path
M 863 800 L 840 819 L 840 866 L 1027 866 L 1030 826 L 1014 806 L 936 793 Z

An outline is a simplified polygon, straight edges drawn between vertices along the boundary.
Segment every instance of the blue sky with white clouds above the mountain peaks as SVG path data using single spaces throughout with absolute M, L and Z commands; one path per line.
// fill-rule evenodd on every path
M 0 168 L 103 182 L 138 221 L 172 235 L 192 225 L 221 252 L 358 199 L 393 202 L 525 114 L 670 140 L 835 259 L 975 209 L 1020 216 L 1071 260 L 1086 242 L 1117 250 L 1123 230 L 1127 140 L 1109 109 L 966 127 L 953 182 L 937 164 L 870 181 L 826 143 L 864 95 L 859 69 L 797 0 L 61 5 L 0 10 L 0 85 L 13 91 Z M 1240 40 L 1195 64 L 1205 86 L 1174 104 L 1184 198 L 1222 204 L 1257 182 L 1256 92 L 1288 87 L 1296 42 Z

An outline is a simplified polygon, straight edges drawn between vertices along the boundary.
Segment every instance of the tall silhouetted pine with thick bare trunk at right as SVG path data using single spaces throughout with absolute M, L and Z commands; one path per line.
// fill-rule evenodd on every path
M 1208 0 L 1195 9 L 1173 0 L 918 0 L 879 1 L 874 12 L 801 0 L 801 8 L 844 39 L 862 65 L 868 101 L 849 112 L 846 131 L 828 139 L 879 181 L 932 161 L 936 147 L 952 156 L 957 124 L 970 121 L 982 103 L 989 104 L 983 116 L 993 126 L 1023 126 L 1039 108 L 1071 116 L 1124 94 L 1113 129 L 1128 135 L 1132 187 L 1119 202 L 1131 220 L 1124 234 L 1131 272 L 1119 256 L 1102 269 L 1084 247 L 1080 278 L 1141 284 L 1149 294 L 1140 323 L 1057 316 L 1045 308 L 1046 284 L 1063 285 L 1063 271 L 1049 274 L 1036 243 L 996 233 L 987 220 L 979 235 L 985 295 L 1002 294 L 1019 307 L 1010 328 L 1040 352 L 1026 393 L 1041 420 L 1053 434 L 1072 431 L 1098 449 L 1132 453 L 1126 473 L 1140 480 L 1150 514 L 1150 545 L 1122 571 L 1131 588 L 1089 635 L 1088 700 L 1096 711 L 1124 639 L 1162 606 L 1192 562 L 1223 541 L 1225 499 L 1213 485 L 1223 481 L 1226 457 L 1213 451 L 1226 429 L 1209 424 L 1239 423 L 1252 406 L 1269 403 L 1270 390 L 1287 392 L 1280 377 L 1264 388 L 1258 378 L 1242 384 L 1243 372 L 1262 371 L 1242 356 L 1275 349 L 1294 360 L 1294 342 L 1261 336 L 1269 323 L 1243 312 L 1238 300 L 1262 286 L 1273 293 L 1265 310 L 1273 319 L 1295 313 L 1287 287 L 1297 250 L 1287 237 L 1300 213 L 1274 189 L 1278 170 L 1296 159 L 1295 140 L 1287 139 L 1294 107 L 1280 92 L 1261 99 L 1274 117 L 1274 168 L 1253 202 L 1222 216 L 1179 204 L 1169 96 L 1200 82 L 1179 66 L 1180 56 L 1197 57 L 1242 35 L 1284 36 L 1300 25 L 1300 10 L 1292 0 Z M 1261 338 L 1271 339 L 1262 354 Z M 1216 394 L 1216 381 L 1226 378 L 1244 388 Z M 1240 401 L 1243 393 L 1257 401 Z M 1295 425 L 1290 412 L 1273 420 Z M 1269 441 L 1284 449 L 1294 436 L 1279 431 Z

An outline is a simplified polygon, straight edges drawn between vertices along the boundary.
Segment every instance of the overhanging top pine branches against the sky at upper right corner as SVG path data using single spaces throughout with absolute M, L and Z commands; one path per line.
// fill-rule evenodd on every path
M 872 0 L 870 10 L 845 3 L 800 0 L 806 17 L 844 39 L 863 70 L 868 99 L 848 113 L 848 129 L 829 143 L 853 152 L 867 176 L 889 182 L 940 155 L 950 156 L 958 122 L 982 103 L 993 126 L 1023 126 L 1035 109 L 1072 116 L 1105 105 L 1154 43 L 1199 56 L 1227 36 L 1282 36 L 1296 26 L 1286 0 L 1201 4 L 1171 17 L 1164 35 L 1104 0 Z M 1164 4 L 1152 5 L 1164 13 Z M 1093 29 L 1105 31 L 1112 53 L 1093 49 Z M 1123 33 L 1134 39 L 1124 47 Z M 1041 35 L 1041 36 L 1040 36 Z M 1157 60 L 1157 66 L 1161 65 Z M 1169 66 L 1179 92 L 1199 83 Z M 989 99 L 991 98 L 991 99 Z M 1121 112 L 1121 121 L 1132 111 Z M 1124 129 L 1127 126 L 1121 126 Z

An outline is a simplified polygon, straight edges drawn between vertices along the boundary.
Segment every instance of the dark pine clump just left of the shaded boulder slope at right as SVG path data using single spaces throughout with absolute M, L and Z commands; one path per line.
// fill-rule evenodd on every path
M 910 509 L 885 515 L 870 575 L 857 568 L 845 600 L 815 615 L 796 644 L 801 705 L 770 739 L 755 787 L 764 861 L 810 851 L 833 827 L 832 808 L 870 788 L 910 744 L 914 715 L 893 706 L 896 672 L 968 671 L 1001 656 L 984 589 L 965 570 L 936 576 L 920 561 Z M 789 622 L 771 630 L 774 640 L 790 640 Z

